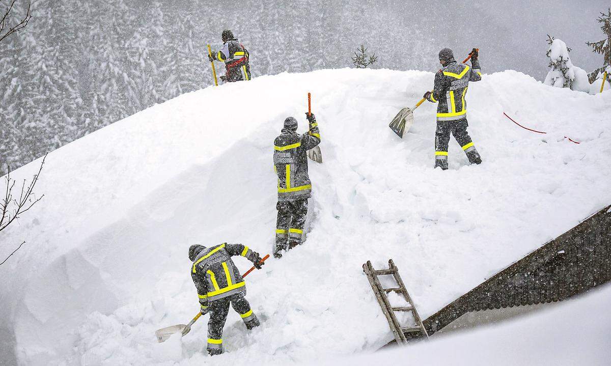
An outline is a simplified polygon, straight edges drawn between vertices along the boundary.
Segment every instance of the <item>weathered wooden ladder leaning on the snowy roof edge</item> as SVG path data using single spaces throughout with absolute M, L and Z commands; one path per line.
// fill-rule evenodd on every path
M 409 297 L 408 290 L 406 290 L 405 285 L 403 284 L 403 280 L 401 280 L 401 276 L 399 276 L 399 269 L 395 266 L 395 263 L 392 262 L 392 259 L 388 261 L 389 269 L 373 269 L 370 261 L 367 261 L 363 265 L 363 272 L 367 275 L 367 279 L 369 280 L 369 284 L 371 285 L 371 289 L 373 290 L 373 294 L 378 299 L 380 307 L 382 308 L 382 312 L 386 316 L 386 320 L 388 320 L 388 324 L 390 326 L 390 330 L 395 335 L 395 340 L 397 340 L 397 344 L 404 345 L 410 339 L 414 339 L 417 337 L 425 337 L 428 339 L 428 333 L 426 332 L 426 328 L 424 324 L 422 324 L 422 320 L 420 320 L 420 315 L 416 311 L 414 306 L 414 302 L 412 298 Z M 384 276 L 385 274 L 392 274 L 395 277 L 395 281 L 399 287 L 393 288 L 384 288 L 380 284 L 378 276 Z M 405 301 L 409 304 L 409 306 L 404 307 L 392 307 L 390 305 L 390 301 L 388 299 L 387 293 L 395 291 L 399 295 L 403 295 Z M 403 327 L 397 320 L 395 316 L 395 312 L 412 312 L 412 316 L 414 317 L 415 327 Z M 406 335 L 407 334 L 407 335 Z M 410 336 L 408 336 L 411 334 Z

